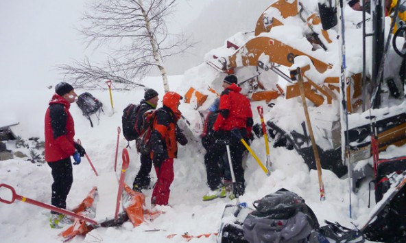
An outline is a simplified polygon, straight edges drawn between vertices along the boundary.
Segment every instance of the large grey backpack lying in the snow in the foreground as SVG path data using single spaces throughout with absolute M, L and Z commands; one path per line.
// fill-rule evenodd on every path
M 253 203 L 256 210 L 243 223 L 250 243 L 309 242 L 311 231 L 319 229 L 318 219 L 305 200 L 287 189 L 279 189 Z

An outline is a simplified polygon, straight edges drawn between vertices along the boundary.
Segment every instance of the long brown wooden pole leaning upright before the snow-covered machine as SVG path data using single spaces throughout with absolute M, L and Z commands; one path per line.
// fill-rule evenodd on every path
M 311 139 L 311 147 L 313 148 L 313 153 L 314 153 L 314 157 L 315 157 L 315 165 L 316 165 L 316 168 L 318 170 L 320 200 L 324 201 L 324 200 L 326 200 L 326 195 L 325 195 L 325 192 L 324 192 L 324 183 L 323 183 L 323 178 L 322 178 L 322 165 L 320 163 L 319 152 L 318 152 L 317 145 L 315 143 L 315 139 L 314 139 L 314 135 L 313 135 L 313 128 L 311 128 L 309 111 L 307 110 L 307 104 L 306 104 L 305 88 L 303 86 L 302 70 L 300 69 L 300 67 L 298 67 L 296 69 L 296 75 L 298 76 L 300 96 L 302 97 L 303 110 L 305 111 L 307 128 L 309 129 L 309 135 L 310 135 L 310 139 Z

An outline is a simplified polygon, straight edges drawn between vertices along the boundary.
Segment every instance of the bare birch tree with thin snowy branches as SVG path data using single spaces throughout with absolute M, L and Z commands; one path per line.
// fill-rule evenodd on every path
M 169 91 L 163 62 L 167 56 L 191 47 L 182 35 L 169 34 L 165 18 L 172 13 L 176 0 L 93 0 L 85 12 L 80 32 L 88 47 L 108 49 L 106 62 L 95 65 L 87 57 L 73 65 L 60 65 L 65 80 L 75 86 L 97 87 L 100 81 L 143 86 L 141 80 L 153 67 Z

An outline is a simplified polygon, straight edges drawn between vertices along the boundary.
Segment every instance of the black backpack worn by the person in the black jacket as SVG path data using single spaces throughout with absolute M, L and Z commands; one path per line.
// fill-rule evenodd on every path
M 132 141 L 139 137 L 139 131 L 136 130 L 136 122 L 140 107 L 140 105 L 128 104 L 123 110 L 121 124 L 123 126 L 123 135 L 127 141 Z

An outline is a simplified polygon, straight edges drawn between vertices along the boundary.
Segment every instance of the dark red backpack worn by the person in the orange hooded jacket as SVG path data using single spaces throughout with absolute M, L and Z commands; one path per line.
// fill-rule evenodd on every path
M 149 110 L 143 115 L 143 125 L 140 130 L 141 136 L 136 140 L 136 149 L 141 152 L 141 154 L 151 152 L 151 135 L 157 111 L 158 110 Z

